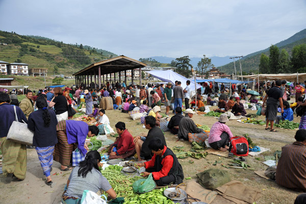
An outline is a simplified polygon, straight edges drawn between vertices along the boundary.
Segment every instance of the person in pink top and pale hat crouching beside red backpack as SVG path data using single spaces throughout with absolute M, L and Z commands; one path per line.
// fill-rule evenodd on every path
M 228 150 L 228 142 L 231 141 L 233 134 L 225 122 L 228 121 L 227 114 L 223 113 L 218 118 L 218 122 L 214 123 L 208 137 L 209 145 L 214 149 L 221 151 Z

